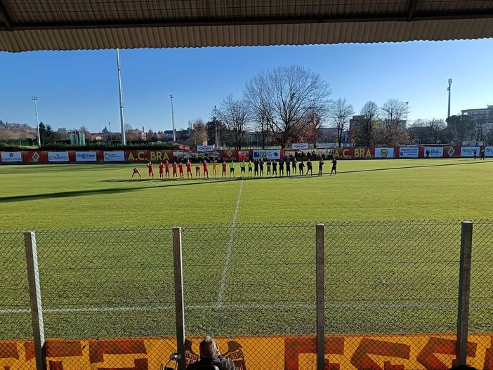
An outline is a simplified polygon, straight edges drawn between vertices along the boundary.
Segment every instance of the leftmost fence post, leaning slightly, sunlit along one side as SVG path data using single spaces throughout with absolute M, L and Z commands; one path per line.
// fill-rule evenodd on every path
M 24 233 L 24 243 L 26 247 L 27 281 L 29 283 L 29 300 L 31 301 L 32 333 L 34 338 L 36 370 L 46 370 L 43 308 L 41 307 L 41 286 L 39 284 L 36 234 L 32 231 L 26 231 Z

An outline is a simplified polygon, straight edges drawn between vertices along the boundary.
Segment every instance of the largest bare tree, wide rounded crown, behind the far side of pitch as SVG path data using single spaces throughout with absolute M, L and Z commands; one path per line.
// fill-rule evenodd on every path
M 305 135 L 313 124 L 310 114 L 327 110 L 329 84 L 304 67 L 277 67 L 253 77 L 245 88 L 249 102 L 254 102 L 258 117 L 268 123 L 270 132 L 281 147 Z

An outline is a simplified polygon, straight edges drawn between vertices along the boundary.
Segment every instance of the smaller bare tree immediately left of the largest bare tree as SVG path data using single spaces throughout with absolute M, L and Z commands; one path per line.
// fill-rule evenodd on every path
M 235 147 L 242 149 L 242 139 L 250 120 L 246 100 L 236 100 L 232 95 L 228 95 L 221 103 L 219 117 L 232 133 Z

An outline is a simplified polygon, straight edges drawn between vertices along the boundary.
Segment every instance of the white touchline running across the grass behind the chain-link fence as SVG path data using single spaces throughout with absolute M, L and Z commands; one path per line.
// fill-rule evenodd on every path
M 475 308 L 493 308 L 493 303 L 474 303 Z M 185 310 L 216 310 L 219 307 L 217 305 L 185 305 Z M 221 310 L 287 310 L 287 309 L 308 309 L 315 310 L 316 305 L 309 304 L 232 304 L 222 305 Z M 456 303 L 329 303 L 325 305 L 326 310 L 347 310 L 347 309 L 362 309 L 362 308 L 378 308 L 378 309 L 426 309 L 426 308 L 456 308 Z M 171 311 L 174 310 L 174 305 L 165 306 L 136 306 L 136 307 L 101 307 L 101 308 L 46 308 L 43 312 L 121 312 L 121 311 Z M 7 309 L 0 310 L 0 315 L 29 313 L 29 308 L 19 309 Z

